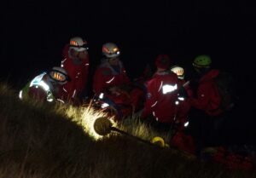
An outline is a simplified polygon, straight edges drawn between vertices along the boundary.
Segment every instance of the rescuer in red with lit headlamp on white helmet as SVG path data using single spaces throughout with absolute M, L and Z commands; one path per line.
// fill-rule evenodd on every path
M 131 87 L 131 79 L 127 76 L 122 61 L 119 60 L 119 47 L 115 43 L 104 43 L 102 55 L 102 63 L 96 68 L 93 78 L 94 93 L 108 95 L 115 104 L 130 105 L 132 112 L 137 111 L 143 90 Z

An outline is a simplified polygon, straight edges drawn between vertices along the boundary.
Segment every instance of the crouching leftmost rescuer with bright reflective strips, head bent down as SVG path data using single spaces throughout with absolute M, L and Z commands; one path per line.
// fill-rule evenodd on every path
M 67 71 L 60 66 L 53 67 L 49 72 L 43 72 L 20 90 L 20 99 L 32 98 L 41 101 L 65 102 L 65 91 L 62 86 L 69 80 Z

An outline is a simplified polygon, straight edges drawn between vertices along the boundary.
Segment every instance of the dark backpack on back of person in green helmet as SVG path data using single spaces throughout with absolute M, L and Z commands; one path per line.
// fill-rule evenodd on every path
M 236 104 L 237 95 L 234 78 L 230 72 L 219 72 L 214 78 L 214 83 L 217 86 L 218 94 L 220 95 L 220 108 L 224 112 L 230 111 Z

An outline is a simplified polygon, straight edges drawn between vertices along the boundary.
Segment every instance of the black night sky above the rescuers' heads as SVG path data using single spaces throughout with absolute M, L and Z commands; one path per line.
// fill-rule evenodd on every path
M 1 3 L 1 78 L 9 78 L 15 87 L 51 66 L 59 66 L 64 44 L 70 37 L 81 36 L 90 45 L 91 74 L 102 56 L 102 43 L 106 42 L 119 45 L 131 78 L 143 72 L 146 63 L 153 65 L 160 53 L 170 55 L 173 64 L 183 65 L 188 71 L 195 55 L 211 55 L 214 66 L 237 77 L 244 91 L 243 101 L 247 102 L 243 108 L 254 108 L 253 101 L 247 100 L 253 96 L 256 79 L 253 3 L 245 0 L 53 2 Z M 242 118 L 249 117 L 244 117 L 245 112 L 240 113 Z

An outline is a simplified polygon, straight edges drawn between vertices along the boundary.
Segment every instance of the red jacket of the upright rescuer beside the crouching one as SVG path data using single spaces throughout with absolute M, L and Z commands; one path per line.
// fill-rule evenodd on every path
M 67 46 L 63 49 L 64 60 L 61 61 L 61 66 L 67 70 L 67 74 L 71 81 L 63 86 L 67 91 L 67 98 L 72 100 L 85 89 L 88 73 L 89 73 L 89 56 L 82 60 L 81 64 L 75 64 L 73 58 L 68 54 Z

